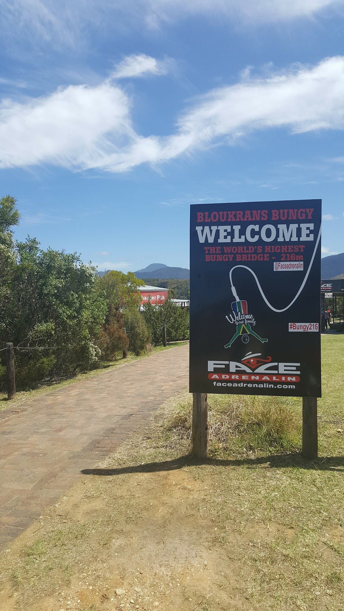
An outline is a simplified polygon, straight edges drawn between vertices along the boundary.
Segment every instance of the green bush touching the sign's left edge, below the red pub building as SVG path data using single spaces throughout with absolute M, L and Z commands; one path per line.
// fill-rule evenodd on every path
M 189 308 L 181 308 L 168 299 L 162 305 L 144 305 L 143 317 L 151 331 L 154 345 L 162 343 L 162 327 L 166 324 L 168 342 L 189 339 Z

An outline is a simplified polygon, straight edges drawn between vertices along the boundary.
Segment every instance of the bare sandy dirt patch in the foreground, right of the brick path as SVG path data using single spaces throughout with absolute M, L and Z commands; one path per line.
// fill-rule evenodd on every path
M 125 474 L 125 485 L 116 485 L 113 496 L 116 477 L 121 475 L 101 477 L 101 490 L 99 477 L 83 480 L 7 552 L 15 554 L 23 543 L 32 543 L 48 520 L 55 527 L 70 520 L 89 525 L 97 514 L 105 514 L 103 546 L 96 525 L 88 533 L 97 557 L 88 549 L 88 562 L 78 558 L 77 567 L 83 569 L 71 576 L 70 585 L 33 604 L 5 587 L 2 611 L 23 605 L 27 611 L 253 609 L 241 598 L 234 563 L 228 564 L 228 557 L 212 543 L 219 526 L 202 512 L 212 494 L 211 482 L 196 480 L 187 469 L 134 470 Z M 233 546 L 239 538 L 239 533 L 233 535 Z

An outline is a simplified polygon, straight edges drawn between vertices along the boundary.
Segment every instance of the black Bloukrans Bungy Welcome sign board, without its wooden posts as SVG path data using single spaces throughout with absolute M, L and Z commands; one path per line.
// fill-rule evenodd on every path
M 190 392 L 321 397 L 321 200 L 190 207 Z

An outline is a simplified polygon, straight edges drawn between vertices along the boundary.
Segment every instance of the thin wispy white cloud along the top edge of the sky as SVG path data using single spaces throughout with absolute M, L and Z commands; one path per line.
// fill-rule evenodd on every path
M 75 43 L 97 31 L 158 27 L 164 21 L 187 16 L 224 18 L 250 24 L 291 21 L 327 15 L 343 7 L 344 0 L 0 0 L 4 43 L 19 35 L 40 44 Z

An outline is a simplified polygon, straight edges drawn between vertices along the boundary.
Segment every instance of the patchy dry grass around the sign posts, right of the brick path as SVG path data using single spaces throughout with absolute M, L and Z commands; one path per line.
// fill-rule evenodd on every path
M 68 587 L 70 575 L 82 580 L 89 570 L 97 584 L 95 558 L 115 573 L 111 541 L 121 537 L 129 563 L 124 576 L 138 566 L 131 560 L 136 536 L 150 529 L 154 539 L 155 528 L 163 554 L 185 537 L 211 555 L 207 579 L 214 574 L 209 588 L 216 596 L 236 584 L 222 605 L 215 598 L 194 604 L 186 584 L 185 609 L 344 611 L 344 336 L 323 336 L 322 348 L 319 459 L 305 461 L 299 451 L 301 399 L 209 395 L 209 459 L 196 461 L 190 455 L 190 398 L 179 395 L 106 459 L 104 468 L 118 474 L 91 478 L 68 514 L 47 521 L 38 538 L 4 555 L 2 585 L 10 582 L 28 608 L 28 601 L 58 591 L 56 584 Z M 152 570 L 159 584 L 158 561 Z M 168 580 L 175 579 L 173 563 L 169 570 Z M 182 570 L 192 575 L 187 566 Z M 202 584 L 202 575 L 198 579 Z M 154 583 L 149 588 L 158 597 Z M 173 595 L 159 608 L 179 609 Z

